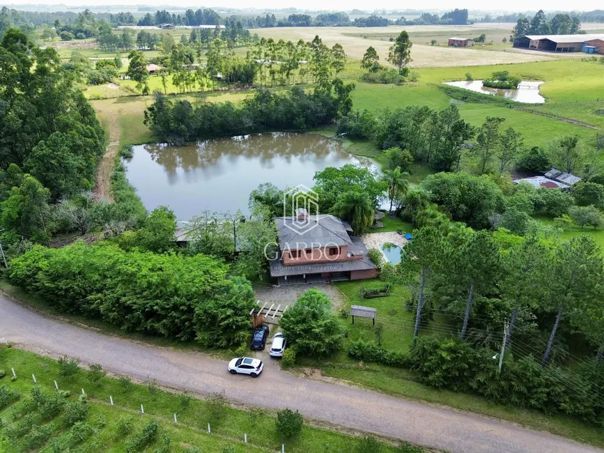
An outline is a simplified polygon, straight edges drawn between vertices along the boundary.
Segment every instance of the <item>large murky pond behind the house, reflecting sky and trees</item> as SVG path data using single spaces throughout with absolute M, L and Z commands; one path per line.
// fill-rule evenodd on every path
M 313 186 L 316 171 L 371 162 L 350 155 L 340 141 L 316 134 L 262 134 L 199 141 L 190 146 L 134 146 L 127 178 L 148 210 L 171 208 L 178 220 L 204 210 L 247 213 L 249 193 L 261 183 L 279 189 Z

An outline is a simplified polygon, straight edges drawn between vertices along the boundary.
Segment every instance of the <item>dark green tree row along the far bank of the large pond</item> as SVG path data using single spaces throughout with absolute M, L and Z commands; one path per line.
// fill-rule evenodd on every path
M 240 105 L 208 102 L 194 107 L 155 93 L 145 124 L 162 141 L 183 143 L 212 137 L 233 137 L 272 130 L 308 130 L 335 121 L 350 111 L 354 84 L 341 80 L 318 86 L 312 93 L 295 87 L 283 93 L 258 90 Z

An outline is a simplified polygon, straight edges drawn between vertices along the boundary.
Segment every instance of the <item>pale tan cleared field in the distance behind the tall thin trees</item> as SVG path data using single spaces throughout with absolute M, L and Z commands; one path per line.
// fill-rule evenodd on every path
M 482 27 L 481 29 L 484 29 Z M 265 38 L 283 39 L 297 41 L 300 39 L 310 41 L 316 35 L 323 39 L 326 45 L 332 46 L 335 43 L 340 43 L 346 54 L 353 59 L 361 59 L 367 47 L 370 45 L 375 47 L 375 50 L 380 55 L 380 60 L 385 61 L 388 49 L 392 45 L 389 38 L 375 38 L 376 35 L 387 33 L 388 36 L 396 36 L 402 30 L 407 30 L 410 33 L 426 33 L 427 36 L 431 33 L 448 34 L 456 36 L 468 33 L 473 30 L 469 26 L 443 26 L 443 25 L 416 25 L 416 26 L 389 26 L 385 27 L 366 27 L 359 29 L 356 26 L 339 26 L 339 27 L 284 27 L 274 29 L 256 29 L 255 33 L 258 36 Z M 493 30 L 499 34 L 501 30 Z M 480 34 L 480 33 L 478 33 Z M 506 34 L 509 34 L 506 32 Z M 367 36 L 367 38 L 364 38 Z M 371 38 L 374 36 L 374 38 Z M 552 56 L 539 54 L 522 54 L 512 51 L 511 49 L 495 49 L 493 52 L 483 52 L 479 49 L 462 49 L 454 47 L 442 47 L 421 45 L 419 43 L 430 42 L 426 37 L 416 40 L 412 48 L 411 55 L 413 58 L 410 67 L 412 68 L 433 68 L 444 66 L 477 66 L 489 64 L 505 64 L 505 63 L 526 63 L 528 61 L 544 61 L 551 60 Z

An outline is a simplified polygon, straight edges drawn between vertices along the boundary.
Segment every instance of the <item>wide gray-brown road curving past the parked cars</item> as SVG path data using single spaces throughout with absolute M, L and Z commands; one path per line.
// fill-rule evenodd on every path
M 271 409 L 295 408 L 316 420 L 408 440 L 454 453 L 601 452 L 548 433 L 385 394 L 297 378 L 277 367 L 262 376 L 231 376 L 226 363 L 201 353 L 173 351 L 109 337 L 26 309 L 0 295 L 0 338 L 69 355 L 134 378 L 194 392 L 220 392 L 233 401 Z

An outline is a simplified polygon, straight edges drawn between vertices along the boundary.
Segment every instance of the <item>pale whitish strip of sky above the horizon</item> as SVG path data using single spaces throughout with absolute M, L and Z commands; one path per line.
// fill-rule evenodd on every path
M 501 6 L 499 8 L 493 8 L 494 5 L 486 5 L 483 1 L 480 0 L 457 0 L 454 3 L 444 0 L 428 0 L 422 1 L 417 4 L 406 4 L 401 5 L 399 1 L 394 0 L 380 0 L 376 2 L 368 3 L 367 1 L 362 0 L 332 0 L 329 3 L 325 3 L 322 0 L 304 0 L 304 1 L 295 1 L 289 0 L 284 2 L 283 0 L 228 0 L 228 3 L 219 3 L 219 6 L 212 5 L 208 3 L 206 5 L 201 5 L 201 3 L 191 4 L 190 0 L 184 0 L 182 3 L 171 3 L 167 4 L 166 0 L 146 0 L 141 2 L 140 0 L 100 0 L 90 3 L 82 3 L 82 0 L 61 0 L 61 1 L 53 1 L 53 0 L 34 0 L 31 2 L 28 1 L 6 1 L 0 0 L 0 5 L 65 5 L 65 6 L 122 6 L 123 8 L 128 8 L 130 6 L 164 6 L 166 9 L 198 9 L 204 7 L 210 7 L 215 9 L 220 8 L 254 8 L 254 9 L 262 9 L 262 8 L 299 8 L 299 9 L 308 9 L 308 10 L 352 10 L 353 8 L 357 8 L 360 10 L 405 10 L 405 9 L 419 9 L 419 10 L 451 10 L 454 8 L 468 8 L 474 10 L 492 10 L 496 13 L 501 13 L 503 11 L 513 12 L 513 11 L 526 11 L 526 10 L 535 10 L 539 8 L 539 5 L 531 4 L 522 0 L 508 0 L 505 3 L 505 8 Z M 180 6 L 182 5 L 182 6 Z M 582 11 L 589 11 L 595 9 L 603 9 L 604 4 L 602 0 L 584 0 L 580 3 L 580 5 L 572 5 L 573 8 L 580 7 Z M 568 11 L 568 2 L 562 0 L 552 0 L 549 2 L 543 2 L 541 8 L 546 11 L 556 11 L 556 10 L 565 10 Z M 132 8 L 134 9 L 134 8 Z

